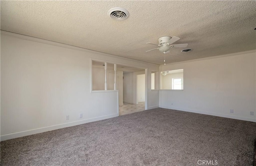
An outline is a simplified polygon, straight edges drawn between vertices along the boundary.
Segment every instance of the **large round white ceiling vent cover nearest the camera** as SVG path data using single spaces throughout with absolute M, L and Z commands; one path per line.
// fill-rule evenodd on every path
M 108 16 L 113 20 L 122 21 L 129 17 L 129 12 L 124 8 L 112 8 L 108 10 Z

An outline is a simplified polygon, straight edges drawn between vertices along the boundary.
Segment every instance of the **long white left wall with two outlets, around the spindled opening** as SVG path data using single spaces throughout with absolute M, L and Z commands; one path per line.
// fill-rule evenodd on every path
M 116 91 L 91 93 L 91 58 L 159 69 L 150 63 L 1 31 L 1 140 L 118 116 Z

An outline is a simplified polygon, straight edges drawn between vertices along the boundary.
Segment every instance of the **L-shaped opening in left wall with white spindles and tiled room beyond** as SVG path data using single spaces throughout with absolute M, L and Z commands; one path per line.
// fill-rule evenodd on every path
M 103 93 L 105 91 L 114 90 L 116 73 L 119 115 L 145 110 L 147 103 L 147 101 L 145 101 L 145 71 L 147 69 L 96 60 L 92 60 L 91 63 L 92 92 L 101 91 L 101 93 Z

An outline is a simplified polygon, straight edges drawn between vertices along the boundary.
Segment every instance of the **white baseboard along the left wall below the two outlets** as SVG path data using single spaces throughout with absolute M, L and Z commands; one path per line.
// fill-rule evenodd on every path
M 106 115 L 106 116 L 101 116 L 101 117 L 96 117 L 96 118 L 84 119 L 84 120 L 81 120 L 81 121 L 74 121 L 74 122 L 70 122 L 70 123 L 63 123 L 63 124 L 60 124 L 60 125 L 53 125 L 53 126 L 49 126 L 49 127 L 42 127 L 42 128 L 39 128 L 39 129 L 32 129 L 32 130 L 21 131 L 21 132 L 17 132 L 17 133 L 1 135 L 0 140 L 5 141 L 5 140 L 8 140 L 8 139 L 14 139 L 14 138 L 18 138 L 18 137 L 24 137 L 24 136 L 27 136 L 27 135 L 43 133 L 43 132 L 46 132 L 46 131 L 62 129 L 62 128 L 65 128 L 65 127 L 81 125 L 81 124 L 84 124 L 84 123 L 99 121 L 99 120 L 108 119 L 108 118 L 117 117 L 117 116 L 119 116 L 119 114 L 115 113 L 115 114 L 112 114 L 112 115 Z

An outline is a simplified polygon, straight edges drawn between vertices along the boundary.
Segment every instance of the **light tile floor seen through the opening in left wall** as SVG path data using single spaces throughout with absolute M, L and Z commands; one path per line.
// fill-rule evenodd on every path
M 129 113 L 134 113 L 138 111 L 145 110 L 145 102 L 138 102 L 138 104 L 124 103 L 124 105 L 119 106 L 119 115 L 126 115 Z

